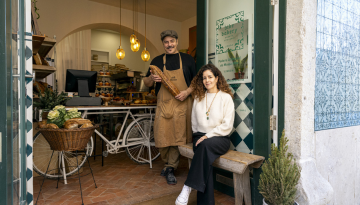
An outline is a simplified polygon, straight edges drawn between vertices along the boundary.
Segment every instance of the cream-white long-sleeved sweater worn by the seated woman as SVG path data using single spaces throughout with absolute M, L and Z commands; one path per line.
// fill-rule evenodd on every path
M 207 93 L 200 102 L 195 98 L 191 113 L 192 131 L 206 133 L 208 138 L 227 136 L 233 129 L 235 106 L 231 96 L 219 91 L 210 108 L 209 120 L 206 112 L 216 93 Z

